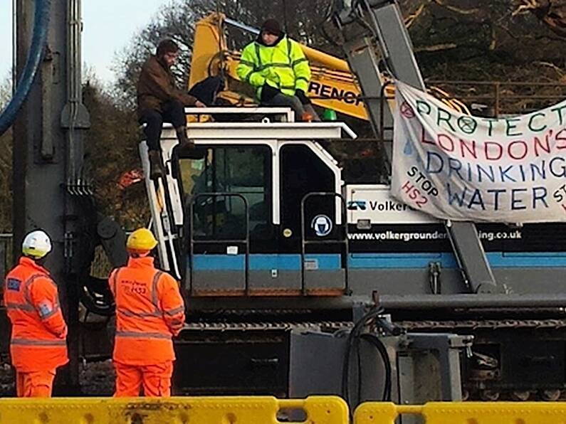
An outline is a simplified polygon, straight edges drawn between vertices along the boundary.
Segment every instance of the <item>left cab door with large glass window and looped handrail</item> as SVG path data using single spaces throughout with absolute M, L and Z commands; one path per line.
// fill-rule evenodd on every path
M 192 295 L 250 291 L 251 253 L 273 239 L 271 158 L 266 144 L 214 144 L 179 159 L 187 288 Z

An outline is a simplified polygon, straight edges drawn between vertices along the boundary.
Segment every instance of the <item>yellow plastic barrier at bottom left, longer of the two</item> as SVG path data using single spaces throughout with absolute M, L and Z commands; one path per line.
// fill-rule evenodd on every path
M 0 399 L 0 424 L 276 424 L 281 410 L 303 410 L 308 424 L 347 424 L 337 396 Z M 291 415 L 292 416 L 292 415 Z

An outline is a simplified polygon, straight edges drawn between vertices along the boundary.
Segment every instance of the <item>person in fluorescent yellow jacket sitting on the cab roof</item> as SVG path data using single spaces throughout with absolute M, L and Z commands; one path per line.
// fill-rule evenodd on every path
M 256 41 L 243 49 L 236 71 L 256 89 L 261 104 L 291 107 L 299 120 L 319 120 L 306 95 L 308 60 L 299 43 L 288 38 L 275 19 L 265 21 Z

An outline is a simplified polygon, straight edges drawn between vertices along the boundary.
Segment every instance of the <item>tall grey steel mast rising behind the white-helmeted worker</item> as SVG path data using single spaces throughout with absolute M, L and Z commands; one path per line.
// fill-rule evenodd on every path
M 16 0 L 16 75 L 27 57 L 35 3 Z M 70 364 L 58 388 L 76 396 L 79 268 L 88 254 L 83 218 L 91 205 L 83 176 L 89 118 L 81 96 L 80 0 L 53 1 L 50 14 L 43 60 L 14 125 L 14 252 L 29 230 L 43 228 L 51 236 L 46 267 L 69 326 Z

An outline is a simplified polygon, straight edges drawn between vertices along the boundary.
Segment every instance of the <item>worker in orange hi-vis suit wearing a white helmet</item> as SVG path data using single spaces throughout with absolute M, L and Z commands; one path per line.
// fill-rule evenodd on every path
M 57 285 L 43 267 L 49 252 L 49 236 L 32 231 L 23 240 L 19 264 L 6 275 L 4 305 L 12 324 L 10 354 L 19 398 L 51 397 L 56 369 L 68 362 Z

